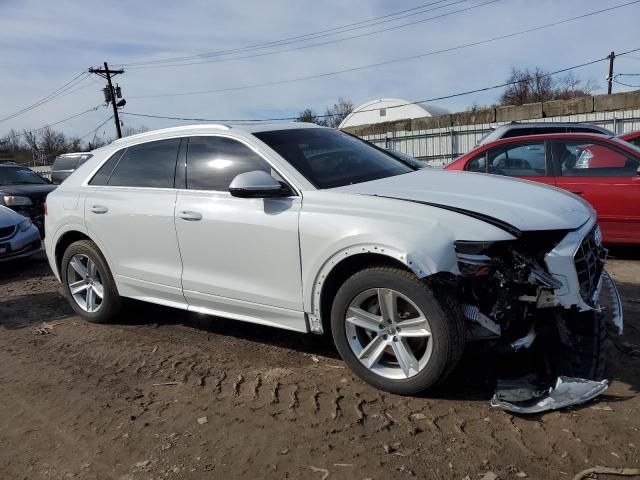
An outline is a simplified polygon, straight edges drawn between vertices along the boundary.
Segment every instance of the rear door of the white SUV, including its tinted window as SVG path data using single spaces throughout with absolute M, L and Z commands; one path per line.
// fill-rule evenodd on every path
M 107 160 L 89 181 L 85 221 L 121 295 L 184 307 L 173 219 L 180 141 L 134 145 Z

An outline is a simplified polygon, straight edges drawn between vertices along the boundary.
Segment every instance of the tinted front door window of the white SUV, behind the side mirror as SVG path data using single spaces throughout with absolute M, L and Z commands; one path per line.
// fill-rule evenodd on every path
M 271 166 L 256 152 L 226 137 L 190 137 L 187 150 L 187 188 L 228 191 L 233 179 L 261 170 L 274 175 Z M 277 175 L 274 175 L 276 178 Z

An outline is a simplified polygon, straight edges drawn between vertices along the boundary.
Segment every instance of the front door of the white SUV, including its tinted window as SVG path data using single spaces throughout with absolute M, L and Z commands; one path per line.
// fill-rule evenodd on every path
M 305 331 L 301 198 L 231 196 L 229 184 L 240 173 L 263 170 L 277 178 L 237 139 L 190 137 L 187 151 L 175 222 L 190 309 Z

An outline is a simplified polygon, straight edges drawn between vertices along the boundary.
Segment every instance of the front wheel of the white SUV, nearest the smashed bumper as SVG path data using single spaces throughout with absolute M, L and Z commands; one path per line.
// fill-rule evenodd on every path
M 374 291 L 378 293 L 371 293 Z M 402 310 L 400 307 L 404 306 L 405 312 L 401 312 L 401 315 L 396 317 L 399 318 L 397 322 L 385 320 L 385 315 L 379 306 L 383 301 L 387 302 L 380 300 L 387 293 L 381 294 L 380 291 L 392 291 L 398 294 L 395 298 L 401 298 L 396 301 L 396 305 L 399 306 L 398 310 Z M 373 296 L 367 300 L 368 295 Z M 393 295 L 388 298 L 393 298 Z M 353 326 L 354 323 L 358 323 L 358 319 L 354 317 L 360 315 L 355 312 L 362 311 L 359 302 L 363 298 L 365 303 L 362 305 L 369 305 L 366 307 L 365 320 L 368 321 L 370 318 L 367 312 L 373 311 L 375 312 L 372 314 L 373 317 L 383 320 L 383 327 L 378 324 L 367 324 L 366 328 L 359 325 Z M 376 298 L 378 298 L 377 306 Z M 391 303 L 393 304 L 393 301 Z M 465 346 L 464 326 L 460 309 L 456 305 L 457 303 L 448 293 L 435 291 L 429 282 L 418 279 L 411 272 L 393 267 L 367 268 L 347 279 L 336 294 L 331 309 L 333 340 L 345 363 L 365 382 L 387 392 L 413 395 L 444 380 L 462 356 Z M 402 315 L 405 315 L 404 319 Z M 421 318 L 427 320 L 426 325 L 421 325 L 430 332 L 426 340 L 417 335 L 416 337 L 407 336 L 418 333 L 415 330 L 416 327 L 408 329 L 403 327 L 402 331 L 399 328 L 402 327 L 403 322 L 416 323 L 421 321 Z M 378 325 L 375 328 L 381 330 L 373 333 L 374 325 Z M 383 328 L 385 330 L 382 330 Z M 422 327 L 419 330 L 424 331 Z M 364 341 L 362 341 L 363 337 Z M 387 341 L 388 346 L 385 346 L 384 350 L 382 346 L 380 349 L 370 348 L 367 342 L 373 345 L 374 340 L 380 345 Z M 404 347 L 397 342 L 403 342 Z M 363 348 L 360 349 L 360 346 Z M 396 352 L 400 353 L 402 348 L 404 351 L 411 350 L 414 354 L 411 362 L 398 361 L 399 356 Z M 374 361 L 379 351 L 383 352 L 380 360 L 372 365 L 366 365 L 365 363 Z M 424 353 L 420 353 L 422 351 Z M 414 365 L 416 368 L 407 369 L 405 368 L 407 364 Z

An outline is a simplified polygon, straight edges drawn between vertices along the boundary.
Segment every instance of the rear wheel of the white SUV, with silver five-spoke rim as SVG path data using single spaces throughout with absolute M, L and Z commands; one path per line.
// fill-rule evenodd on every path
M 121 298 L 104 256 L 95 243 L 80 240 L 64 252 L 60 273 L 71 306 L 94 323 L 105 323 L 120 310 Z

